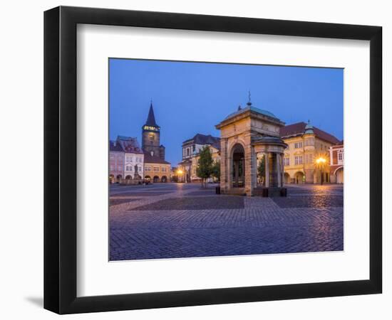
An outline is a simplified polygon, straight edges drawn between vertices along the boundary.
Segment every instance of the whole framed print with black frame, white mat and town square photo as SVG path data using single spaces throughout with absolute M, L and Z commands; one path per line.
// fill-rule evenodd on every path
M 44 307 L 381 293 L 381 27 L 44 16 Z

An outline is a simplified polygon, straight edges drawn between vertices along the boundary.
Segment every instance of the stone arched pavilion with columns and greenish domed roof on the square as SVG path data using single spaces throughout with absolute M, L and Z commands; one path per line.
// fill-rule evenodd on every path
M 279 137 L 284 122 L 267 110 L 247 103 L 220 124 L 220 187 L 222 193 L 253 196 L 280 192 L 285 144 Z M 264 157 L 264 186 L 257 186 L 258 154 Z M 264 189 L 264 190 L 263 190 Z

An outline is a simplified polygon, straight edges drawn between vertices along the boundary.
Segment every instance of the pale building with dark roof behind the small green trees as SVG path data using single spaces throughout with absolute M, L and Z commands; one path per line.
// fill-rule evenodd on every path
M 182 142 L 182 161 L 178 164 L 182 182 L 199 182 L 196 174 L 200 150 L 205 146 L 210 148 L 213 161 L 220 161 L 220 138 L 210 134 L 196 134 L 191 139 Z

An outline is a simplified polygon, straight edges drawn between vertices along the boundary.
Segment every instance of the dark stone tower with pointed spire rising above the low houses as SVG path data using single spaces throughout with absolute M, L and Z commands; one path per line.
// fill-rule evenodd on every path
M 165 147 L 160 145 L 160 127 L 155 122 L 153 102 L 150 104 L 147 121 L 142 127 L 142 149 L 150 156 L 165 159 Z

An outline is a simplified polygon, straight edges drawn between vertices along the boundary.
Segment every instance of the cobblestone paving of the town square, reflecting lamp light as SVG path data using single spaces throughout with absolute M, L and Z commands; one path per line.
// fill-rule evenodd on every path
M 289 185 L 287 198 L 215 186 L 110 186 L 110 260 L 343 250 L 343 186 Z

